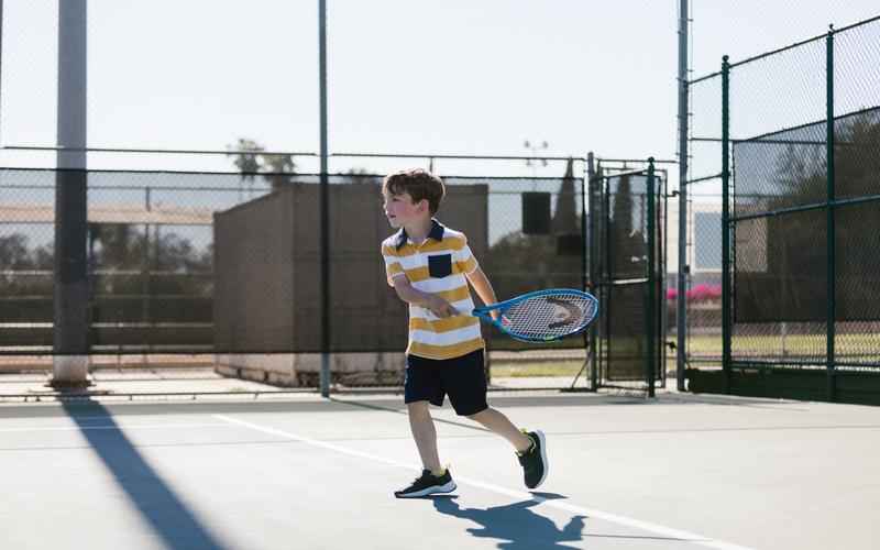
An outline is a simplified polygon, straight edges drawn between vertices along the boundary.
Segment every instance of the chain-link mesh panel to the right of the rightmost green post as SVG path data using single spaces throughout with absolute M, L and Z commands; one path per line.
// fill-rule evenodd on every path
M 834 36 L 838 367 L 880 365 L 880 23 Z M 872 198 L 871 198 L 872 197 Z M 842 315 L 843 314 L 843 315 Z

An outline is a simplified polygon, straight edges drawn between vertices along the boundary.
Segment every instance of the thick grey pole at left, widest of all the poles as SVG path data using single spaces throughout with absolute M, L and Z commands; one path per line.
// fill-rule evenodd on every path
M 88 385 L 88 228 L 86 175 L 87 0 L 58 2 L 59 147 L 56 153 L 53 378 Z

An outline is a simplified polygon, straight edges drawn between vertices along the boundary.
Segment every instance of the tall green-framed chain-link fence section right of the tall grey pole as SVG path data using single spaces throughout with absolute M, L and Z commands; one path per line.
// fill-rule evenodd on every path
M 876 398 L 875 382 L 846 374 L 880 372 L 879 19 L 725 59 L 721 74 L 691 82 L 689 184 L 721 191 L 730 240 L 713 345 L 692 331 L 689 358 L 721 360 L 727 391 L 754 374 L 748 384 L 770 395 Z M 695 258 L 700 210 L 691 205 Z M 697 278 L 692 272 L 692 290 Z M 703 319 L 692 317 L 691 328 Z

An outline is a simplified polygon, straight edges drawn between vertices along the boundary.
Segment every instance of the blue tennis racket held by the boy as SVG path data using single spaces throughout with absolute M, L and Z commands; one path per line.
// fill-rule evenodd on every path
M 498 318 L 493 319 L 492 312 Z M 522 342 L 552 342 L 584 330 L 598 315 L 592 294 L 572 288 L 536 290 L 471 312 Z

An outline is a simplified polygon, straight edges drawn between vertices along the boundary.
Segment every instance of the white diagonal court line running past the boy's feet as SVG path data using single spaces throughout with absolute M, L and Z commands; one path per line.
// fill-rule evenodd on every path
M 415 466 L 413 464 L 406 464 L 404 462 L 397 462 L 395 460 L 386 459 L 384 457 L 378 457 L 376 454 L 370 454 L 366 452 L 355 451 L 354 449 L 348 449 L 345 447 L 340 447 L 332 443 L 327 443 L 324 441 L 318 441 L 316 439 L 305 438 L 302 436 L 297 436 L 295 433 L 290 433 L 289 431 L 277 430 L 275 428 L 268 428 L 265 426 L 260 426 L 256 424 L 252 424 L 245 420 L 240 420 L 238 418 L 231 418 L 226 415 L 212 415 L 215 418 L 219 418 L 220 420 L 224 420 L 230 424 L 234 424 L 238 426 L 243 426 L 245 428 L 251 428 L 252 430 L 262 431 L 263 433 L 268 433 L 272 436 L 277 436 L 280 438 L 293 439 L 295 441 L 299 441 L 301 443 L 307 443 L 312 447 L 319 447 L 321 449 L 327 449 L 329 451 L 336 451 L 342 454 L 348 454 L 349 457 L 355 457 L 359 459 L 366 459 L 373 462 L 381 462 L 383 464 L 388 464 L 392 466 L 397 468 L 405 468 L 407 470 L 415 470 L 420 471 L 420 466 Z M 708 537 L 703 537 L 702 535 L 696 535 L 689 531 L 682 531 L 679 529 L 673 529 L 671 527 L 664 527 L 662 525 L 651 524 L 648 521 L 642 521 L 640 519 L 634 519 L 626 516 L 618 516 L 616 514 L 610 514 L 607 512 L 597 510 L 594 508 L 584 508 L 581 506 L 574 506 L 571 504 L 560 503 L 559 501 L 550 501 L 543 498 L 541 496 L 534 495 L 531 493 L 526 493 L 524 491 L 514 491 L 505 487 L 501 487 L 498 485 L 492 485 L 490 483 L 484 483 L 476 480 L 471 480 L 468 477 L 461 477 L 455 475 L 455 481 L 459 483 L 464 483 L 465 485 L 471 485 L 473 487 L 480 487 L 492 493 L 498 493 L 502 495 L 506 495 L 513 498 L 518 498 L 520 501 L 531 499 L 544 506 L 549 506 L 551 508 L 558 508 L 565 512 L 571 512 L 574 514 L 580 514 L 583 516 L 604 519 L 606 521 L 610 521 L 613 524 L 632 527 L 636 529 L 641 529 L 644 531 L 653 532 L 657 535 L 661 535 L 664 537 L 681 539 L 682 542 L 692 542 L 694 544 L 700 544 L 706 548 L 714 548 L 716 550 L 755 550 L 748 547 L 743 547 L 738 544 L 734 544 L 732 542 L 725 542 L 723 540 L 711 539 Z

